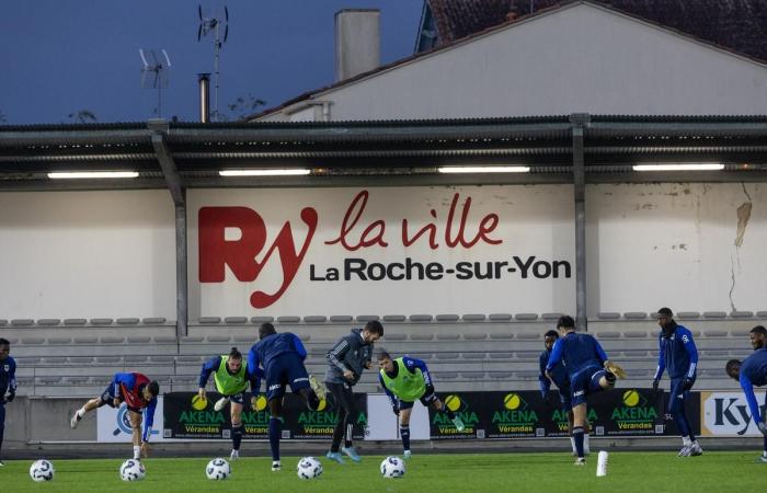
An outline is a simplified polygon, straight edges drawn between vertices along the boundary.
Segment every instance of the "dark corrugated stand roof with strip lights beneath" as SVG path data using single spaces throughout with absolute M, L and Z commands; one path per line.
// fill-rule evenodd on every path
M 652 181 L 764 181 L 767 116 L 610 116 L 332 123 L 0 126 L 0 190 L 571 183 L 583 128 L 586 181 L 646 182 L 638 162 L 721 162 Z M 445 175 L 443 165 L 530 173 Z M 225 169 L 305 167 L 307 176 L 228 179 Z M 135 170 L 128 181 L 54 181 L 51 171 Z M 64 182 L 64 183 L 62 183 Z

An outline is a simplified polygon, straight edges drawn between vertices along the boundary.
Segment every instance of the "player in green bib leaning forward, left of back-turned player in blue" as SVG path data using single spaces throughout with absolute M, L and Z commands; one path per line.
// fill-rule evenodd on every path
M 242 364 L 242 354 L 232 347 L 228 355 L 214 356 L 205 362 L 199 372 L 199 390 L 197 395 L 205 400 L 205 386 L 213 374 L 216 381 L 216 390 L 224 395 L 219 399 L 214 409 L 220 411 L 231 401 L 231 455 L 230 460 L 240 458 L 240 444 L 242 443 L 242 405 L 245 400 L 245 388 L 250 381 L 252 397 L 252 408 L 255 409 L 255 398 L 259 393 L 260 381 L 254 375 L 248 374 L 248 364 Z

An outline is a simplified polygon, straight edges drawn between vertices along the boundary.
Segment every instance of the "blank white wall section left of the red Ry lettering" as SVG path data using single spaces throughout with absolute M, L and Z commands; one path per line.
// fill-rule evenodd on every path
M 0 319 L 175 320 L 167 191 L 0 193 Z

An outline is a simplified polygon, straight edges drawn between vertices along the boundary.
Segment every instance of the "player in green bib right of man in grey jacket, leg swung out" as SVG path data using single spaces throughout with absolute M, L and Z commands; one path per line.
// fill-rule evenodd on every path
M 426 364 L 421 359 L 402 356 L 391 359 L 385 349 L 378 352 L 378 379 L 381 387 L 389 395 L 391 408 L 400 419 L 400 437 L 404 458 L 410 459 L 410 413 L 413 404 L 419 399 L 424 406 L 432 406 L 436 411 L 443 411 L 450 419 L 456 429 L 463 431 L 463 422 L 460 416 L 450 411 L 434 393 L 432 377 L 428 375 Z

